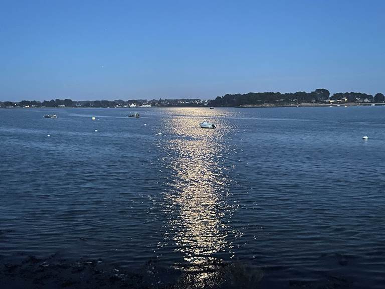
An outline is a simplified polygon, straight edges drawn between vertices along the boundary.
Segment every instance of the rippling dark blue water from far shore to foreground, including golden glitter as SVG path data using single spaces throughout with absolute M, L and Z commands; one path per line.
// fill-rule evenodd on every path
M 132 111 L 0 110 L 8 287 L 384 287 L 384 106 Z

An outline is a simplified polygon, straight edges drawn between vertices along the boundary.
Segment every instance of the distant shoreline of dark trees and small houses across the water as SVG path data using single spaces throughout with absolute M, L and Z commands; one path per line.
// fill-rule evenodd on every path
M 194 99 L 161 99 L 146 100 L 86 100 L 73 101 L 71 99 L 52 99 L 45 101 L 22 100 L 20 102 L 0 102 L 0 107 L 128 107 L 151 105 L 154 107 L 199 107 L 199 106 L 253 106 L 253 105 L 293 105 L 301 103 L 370 103 L 385 102 L 382 93 L 374 96 L 360 92 L 334 93 L 324 88 L 318 88 L 312 92 L 298 91 L 294 93 L 280 92 L 249 92 L 246 94 L 226 94 L 218 96 L 214 100 Z

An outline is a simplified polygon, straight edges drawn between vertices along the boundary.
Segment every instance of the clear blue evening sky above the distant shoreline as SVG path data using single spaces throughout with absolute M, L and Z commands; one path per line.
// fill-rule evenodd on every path
M 385 1 L 0 0 L 0 100 L 385 93 Z

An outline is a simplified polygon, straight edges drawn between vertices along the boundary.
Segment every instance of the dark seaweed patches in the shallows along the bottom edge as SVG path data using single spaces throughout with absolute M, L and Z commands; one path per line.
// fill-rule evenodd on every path
M 18 263 L 0 265 L 3 288 L 132 288 L 132 289 L 234 289 L 270 288 L 261 282 L 263 272 L 241 263 L 217 264 L 213 270 L 175 270 L 158 267 L 149 260 L 138 272 L 106 264 L 102 259 L 69 261 L 56 254 L 39 259 L 28 256 Z M 349 288 L 344 278 L 329 276 L 321 282 L 289 280 L 289 288 Z

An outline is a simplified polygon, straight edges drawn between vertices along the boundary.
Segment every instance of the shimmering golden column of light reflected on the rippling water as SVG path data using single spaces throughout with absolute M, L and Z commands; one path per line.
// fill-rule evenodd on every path
M 163 144 L 173 172 L 168 179 L 171 190 L 164 194 L 166 240 L 183 255 L 183 264 L 175 266 L 194 273 L 196 284 L 215 278 L 223 254 L 231 257 L 233 234 L 228 220 L 234 205 L 228 200 L 230 180 L 224 166 L 229 129 L 218 120 L 218 129 L 202 129 L 199 121 L 203 120 L 167 118 L 164 126 L 170 137 Z

